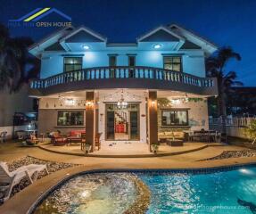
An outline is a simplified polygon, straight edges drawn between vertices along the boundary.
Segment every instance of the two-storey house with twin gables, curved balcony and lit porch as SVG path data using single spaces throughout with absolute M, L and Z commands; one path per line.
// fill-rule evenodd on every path
M 208 129 L 207 97 L 218 93 L 204 62 L 216 50 L 178 25 L 127 44 L 85 27 L 62 29 L 29 48 L 41 60 L 30 84 L 38 132 L 86 129 L 93 145 L 96 133 L 102 144 L 154 144 L 162 131 Z

